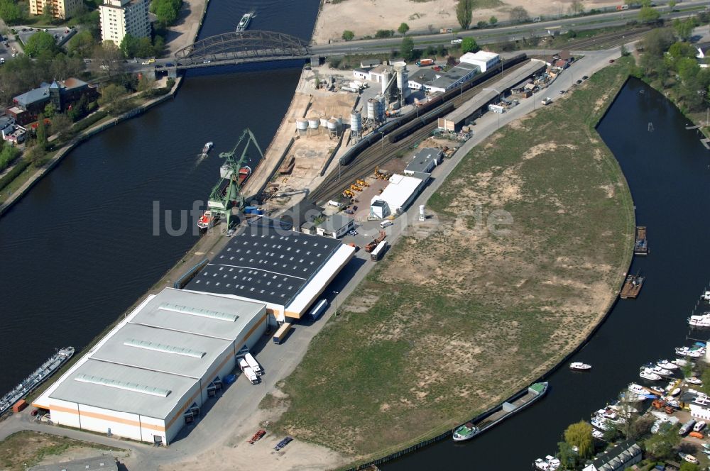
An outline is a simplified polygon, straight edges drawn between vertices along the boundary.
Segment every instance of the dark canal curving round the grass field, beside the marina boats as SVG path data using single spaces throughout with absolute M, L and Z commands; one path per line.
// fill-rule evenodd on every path
M 710 279 L 704 243 L 710 231 L 710 152 L 686 125 L 673 104 L 636 79 L 627 82 L 599 125 L 628 180 L 636 221 L 648 226 L 650 255 L 635 257 L 631 268 L 646 276 L 640 297 L 618 301 L 570 360 L 593 369 L 562 367 L 547 378 L 547 397 L 520 415 L 469 443 L 445 440 L 386 463 L 384 470 L 439 469 L 444 462 L 447 469 L 531 469 L 535 458 L 555 454 L 569 423 L 589 420 L 629 382 L 643 382 L 640 365 L 672 360 L 674 347 L 690 343 L 687 317 Z

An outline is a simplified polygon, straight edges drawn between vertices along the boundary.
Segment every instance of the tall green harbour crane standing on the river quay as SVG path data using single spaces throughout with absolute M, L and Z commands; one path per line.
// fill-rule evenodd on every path
M 244 143 L 244 150 L 241 151 L 241 155 L 237 159 L 237 150 L 241 147 L 245 138 L 247 139 L 246 143 Z M 231 227 L 232 209 L 244 207 L 244 195 L 241 194 L 241 187 L 244 184 L 244 180 L 251 174 L 251 168 L 245 163 L 252 157 L 248 153 L 249 145 L 252 143 L 258 150 L 259 157 L 263 159 L 263 152 L 261 152 L 261 148 L 256 142 L 256 137 L 254 137 L 249 128 L 244 129 L 239 141 L 231 151 L 219 154 L 219 158 L 224 159 L 224 164 L 219 168 L 219 182 L 214 185 L 212 192 L 209 194 L 207 208 L 212 211 L 213 215 L 224 217 L 227 228 Z

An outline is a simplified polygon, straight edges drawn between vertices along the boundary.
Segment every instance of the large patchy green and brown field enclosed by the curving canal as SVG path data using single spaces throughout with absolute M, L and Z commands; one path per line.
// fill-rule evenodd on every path
M 386 455 L 498 404 L 581 343 L 633 245 L 626 180 L 594 131 L 626 79 L 618 62 L 464 157 L 428 202 L 437 226 L 400 239 L 281 384 L 286 399 L 265 399 L 289 404 L 280 431 L 353 461 Z M 506 218 L 507 232 L 488 230 Z

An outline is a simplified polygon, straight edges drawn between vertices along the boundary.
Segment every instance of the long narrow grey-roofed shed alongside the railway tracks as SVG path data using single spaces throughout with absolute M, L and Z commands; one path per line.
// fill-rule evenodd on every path
M 542 72 L 542 70 L 545 70 L 545 67 L 547 67 L 545 62 L 531 59 L 530 62 L 523 65 L 518 70 L 515 70 L 515 72 L 508 74 L 506 77 L 501 78 L 498 82 L 491 85 L 491 87 L 487 87 L 479 94 L 476 94 L 476 96 L 459 106 L 455 111 L 452 111 L 443 118 L 439 118 L 439 130 L 449 133 L 461 131 L 461 127 L 466 125 L 466 119 L 486 109 L 486 106 L 498 100 L 499 96 L 510 91 L 510 89 L 516 84 L 523 82 L 523 80 Z

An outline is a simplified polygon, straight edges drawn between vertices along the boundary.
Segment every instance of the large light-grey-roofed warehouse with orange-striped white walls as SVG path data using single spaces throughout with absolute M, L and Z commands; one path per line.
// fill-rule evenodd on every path
M 256 343 L 267 318 L 263 303 L 165 289 L 33 405 L 60 425 L 170 443 L 234 370 L 236 353 Z

